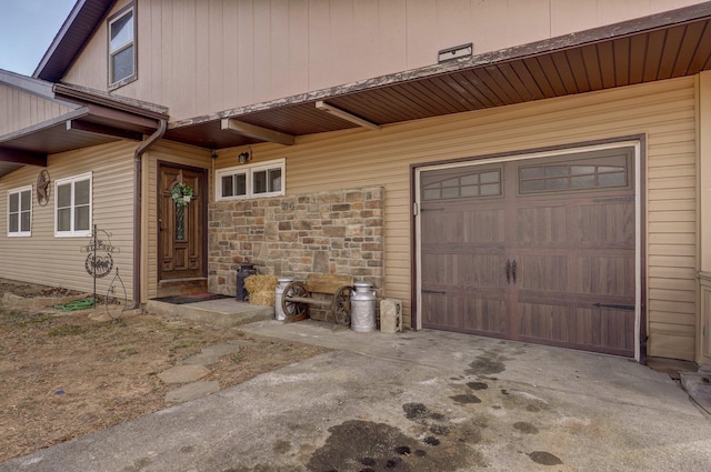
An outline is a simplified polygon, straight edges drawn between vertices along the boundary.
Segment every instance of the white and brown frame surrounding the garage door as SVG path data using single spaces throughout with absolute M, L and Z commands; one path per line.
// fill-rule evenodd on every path
M 420 177 L 422 172 L 469 167 L 479 164 L 491 164 L 497 162 L 513 162 L 529 159 L 552 158 L 555 155 L 574 154 L 603 149 L 614 149 L 620 147 L 634 148 L 634 359 L 647 363 L 647 135 L 634 134 L 607 140 L 587 141 L 572 144 L 561 144 L 549 148 L 537 148 L 514 152 L 500 152 L 479 157 L 468 157 L 453 160 L 425 162 L 410 165 L 410 189 L 412 211 L 410 213 L 410 228 L 413 244 L 411 245 L 411 325 L 415 330 L 422 329 L 422 315 L 419 308 L 422 305 L 422 273 L 421 273 L 421 221 L 420 218 Z

